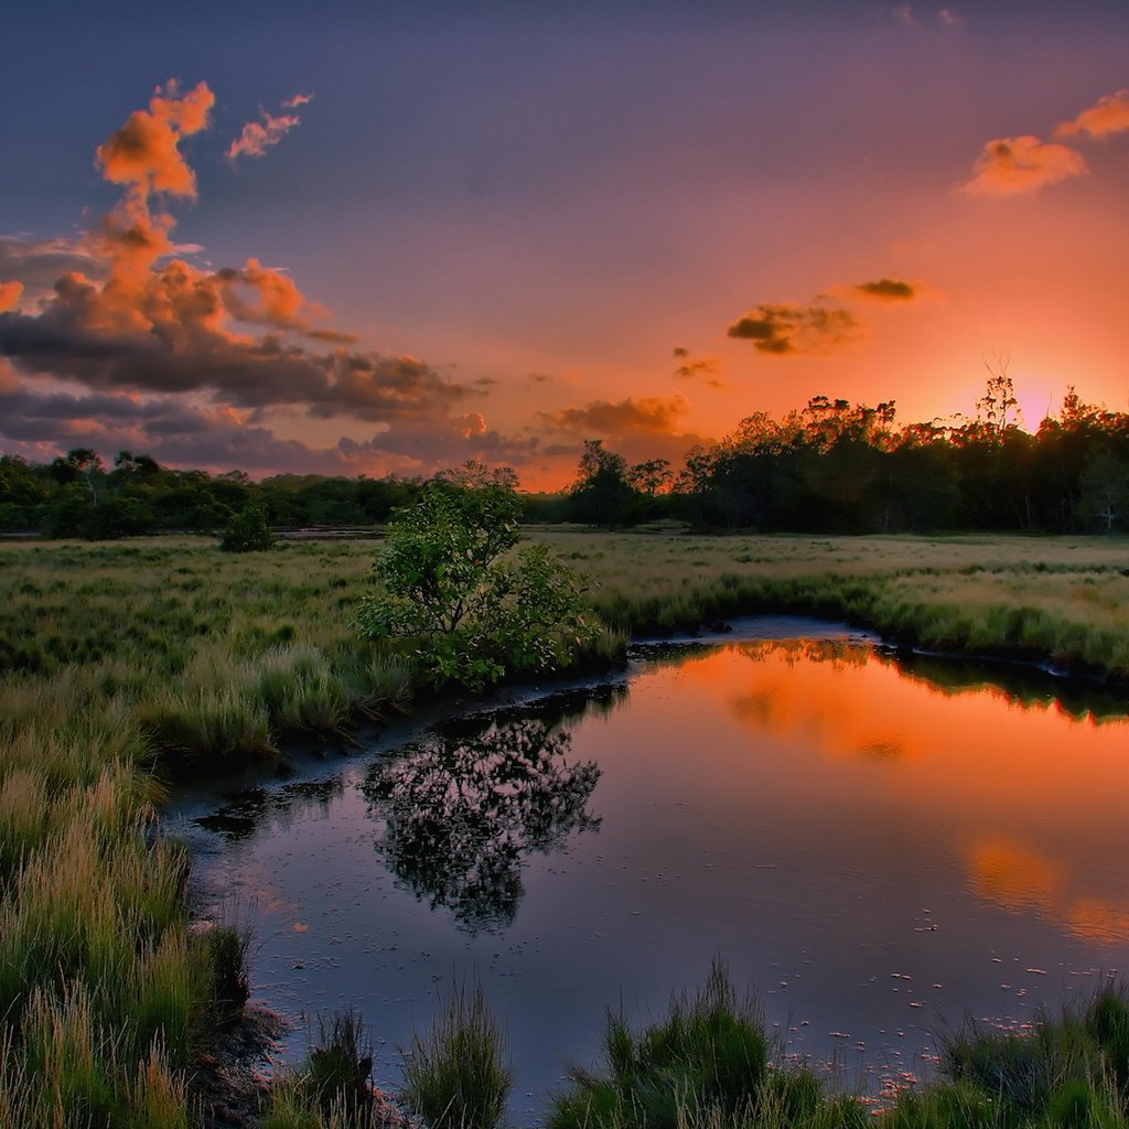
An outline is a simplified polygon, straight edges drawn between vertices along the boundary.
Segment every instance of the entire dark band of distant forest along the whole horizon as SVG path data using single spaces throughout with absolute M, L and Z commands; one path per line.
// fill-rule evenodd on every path
M 560 495 L 524 496 L 524 518 L 797 533 L 1129 528 L 1129 413 L 1087 405 L 1070 388 L 1059 415 L 1032 435 L 1015 422 L 1016 408 L 1006 376 L 988 382 L 975 419 L 947 423 L 899 426 L 893 402 L 815 396 L 784 419 L 747 417 L 717 445 L 690 450 L 680 467 L 629 465 L 592 439 L 574 483 Z M 460 489 L 474 470 L 439 478 Z M 422 481 L 277 474 L 254 482 L 240 471 L 170 470 L 128 450 L 112 467 L 85 448 L 46 464 L 2 455 L 0 531 L 212 533 L 248 506 L 277 528 L 371 526 L 411 502 Z

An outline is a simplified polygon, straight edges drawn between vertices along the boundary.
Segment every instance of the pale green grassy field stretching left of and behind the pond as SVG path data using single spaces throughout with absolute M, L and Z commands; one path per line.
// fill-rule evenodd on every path
M 530 532 L 612 629 L 808 612 L 1129 682 L 1129 543 Z M 244 939 L 192 927 L 154 840 L 178 773 L 269 762 L 405 707 L 411 656 L 349 627 L 374 543 L 0 544 L 0 1124 L 189 1124 Z M 924 1123 L 924 1122 L 922 1122 Z

